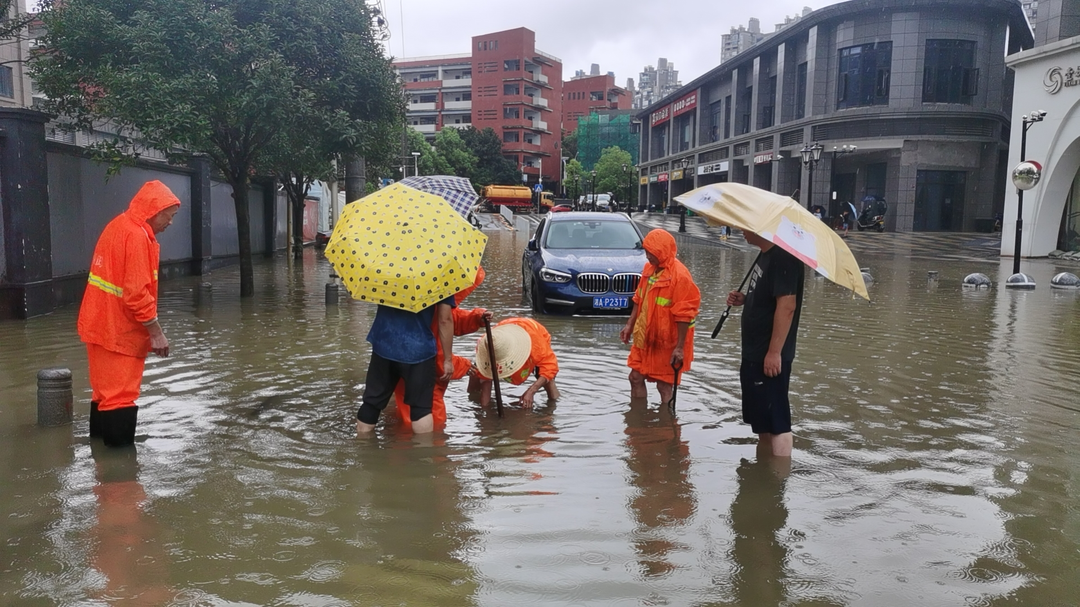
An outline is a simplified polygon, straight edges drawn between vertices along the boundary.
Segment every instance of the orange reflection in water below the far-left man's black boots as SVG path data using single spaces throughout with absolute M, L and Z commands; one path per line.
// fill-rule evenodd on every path
M 146 510 L 148 498 L 138 482 L 135 448 L 93 445 L 97 521 L 90 531 L 91 566 L 105 577 L 98 598 L 110 605 L 165 605 L 166 555 L 158 523 Z

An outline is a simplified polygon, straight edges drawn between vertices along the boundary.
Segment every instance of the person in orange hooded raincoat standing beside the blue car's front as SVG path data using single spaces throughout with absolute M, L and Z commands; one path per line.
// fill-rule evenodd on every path
M 675 258 L 675 237 L 663 229 L 645 237 L 649 260 L 634 293 L 634 309 L 619 337 L 630 348 L 631 397 L 645 397 L 646 381 L 654 381 L 663 404 L 672 388 L 693 361 L 693 324 L 701 307 L 701 292 L 690 270 Z M 678 368 L 678 372 L 676 372 Z

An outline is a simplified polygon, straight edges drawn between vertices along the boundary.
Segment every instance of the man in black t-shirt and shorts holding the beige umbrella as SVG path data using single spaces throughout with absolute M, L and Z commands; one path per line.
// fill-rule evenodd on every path
M 742 365 L 743 421 L 758 436 L 758 451 L 792 456 L 792 407 L 787 387 L 802 309 L 804 265 L 754 232 L 746 242 L 761 249 L 746 294 L 728 294 L 729 306 L 744 306 Z

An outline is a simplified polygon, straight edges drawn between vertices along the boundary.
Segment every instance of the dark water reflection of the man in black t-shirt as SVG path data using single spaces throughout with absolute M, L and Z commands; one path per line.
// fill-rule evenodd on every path
M 737 605 L 781 605 L 785 596 L 787 548 L 780 530 L 787 523 L 784 480 L 769 459 L 743 459 L 739 493 L 731 502 L 731 559 Z

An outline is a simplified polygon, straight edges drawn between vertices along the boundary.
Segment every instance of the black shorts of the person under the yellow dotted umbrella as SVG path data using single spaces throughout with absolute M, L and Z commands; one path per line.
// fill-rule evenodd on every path
M 431 415 L 431 400 L 435 393 L 435 359 L 419 363 L 399 363 L 372 353 L 367 364 L 364 399 L 356 409 L 356 419 L 375 423 L 394 394 L 397 380 L 405 381 L 405 402 L 409 404 L 409 418 L 416 421 Z

